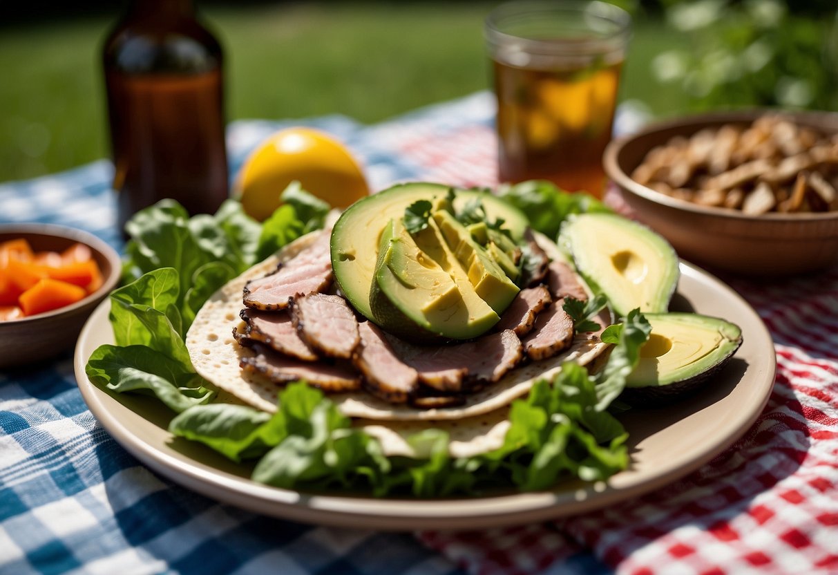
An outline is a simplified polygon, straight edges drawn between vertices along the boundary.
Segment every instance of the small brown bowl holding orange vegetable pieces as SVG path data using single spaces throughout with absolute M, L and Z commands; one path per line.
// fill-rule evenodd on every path
M 102 285 L 64 308 L 0 321 L 0 369 L 47 360 L 72 347 L 87 316 L 116 287 L 122 271 L 119 254 L 86 231 L 52 224 L 0 225 L 0 242 L 19 238 L 28 241 L 34 251 L 63 251 L 75 243 L 85 244 L 99 264 Z

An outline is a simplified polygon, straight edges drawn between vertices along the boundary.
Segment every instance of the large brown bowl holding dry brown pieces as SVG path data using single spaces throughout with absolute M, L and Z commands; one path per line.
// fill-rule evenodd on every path
M 664 236 L 679 256 L 702 266 L 751 276 L 780 276 L 838 262 L 838 212 L 745 215 L 675 199 L 635 182 L 629 174 L 655 146 L 706 127 L 750 124 L 767 110 L 730 111 L 654 124 L 609 144 L 606 174 L 634 217 Z M 838 132 L 838 115 L 783 112 L 801 126 Z

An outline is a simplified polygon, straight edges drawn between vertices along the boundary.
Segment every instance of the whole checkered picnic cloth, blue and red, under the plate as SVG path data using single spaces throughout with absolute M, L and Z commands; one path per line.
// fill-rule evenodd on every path
M 263 137 L 305 123 L 346 142 L 375 188 L 492 185 L 493 115 L 478 93 L 370 127 L 235 122 L 230 161 L 235 173 Z M 0 185 L 0 221 L 74 225 L 119 246 L 110 178 L 102 161 Z M 778 379 L 758 421 L 675 484 L 543 525 L 399 535 L 253 515 L 138 464 L 87 411 L 69 355 L 0 374 L 0 573 L 838 572 L 838 268 L 725 279 L 776 346 Z

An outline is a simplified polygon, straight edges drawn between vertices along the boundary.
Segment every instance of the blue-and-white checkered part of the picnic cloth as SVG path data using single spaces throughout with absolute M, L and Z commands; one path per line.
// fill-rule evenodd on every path
M 305 124 L 346 142 L 365 163 L 375 189 L 398 180 L 442 178 L 445 170 L 472 170 L 464 180 L 492 179 L 493 165 L 461 169 L 441 161 L 441 171 L 435 172 L 427 168 L 427 158 L 417 162 L 410 151 L 411 138 L 457 145 L 456 138 L 447 136 L 488 131 L 493 116 L 494 102 L 481 92 L 375 126 L 339 116 L 234 122 L 228 131 L 231 173 L 262 138 L 280 127 Z M 111 175 L 111 163 L 102 160 L 0 184 L 0 221 L 71 225 L 122 247 Z M 587 553 L 571 561 L 562 557 L 555 567 L 608 572 Z M 68 352 L 46 364 L 0 374 L 0 573 L 65 572 L 461 571 L 411 534 L 281 521 L 221 505 L 161 479 L 123 450 L 87 410 Z

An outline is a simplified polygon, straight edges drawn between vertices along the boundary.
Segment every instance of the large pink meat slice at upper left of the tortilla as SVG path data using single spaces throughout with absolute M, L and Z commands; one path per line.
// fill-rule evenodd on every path
M 332 283 L 332 259 L 329 232 L 320 236 L 297 256 L 292 257 L 266 277 L 245 284 L 244 303 L 254 309 L 285 309 L 288 298 L 323 292 Z

